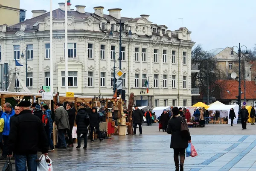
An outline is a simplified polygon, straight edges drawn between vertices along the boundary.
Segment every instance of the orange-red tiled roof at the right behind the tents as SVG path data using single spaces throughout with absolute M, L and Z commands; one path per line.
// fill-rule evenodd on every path
M 237 99 L 239 82 L 237 80 L 218 80 L 220 85 L 221 99 Z M 256 99 L 256 84 L 255 81 L 245 81 L 245 96 L 246 99 Z M 229 91 L 230 93 L 228 93 Z M 244 98 L 244 81 L 241 81 L 241 99 Z

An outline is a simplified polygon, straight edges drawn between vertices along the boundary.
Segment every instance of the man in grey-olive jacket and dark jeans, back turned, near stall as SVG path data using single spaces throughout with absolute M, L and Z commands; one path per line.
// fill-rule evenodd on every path
M 58 143 L 55 148 L 66 148 L 66 140 L 64 136 L 64 131 L 69 130 L 69 121 L 67 111 L 64 109 L 62 104 L 57 103 L 55 109 L 55 125 L 58 129 Z

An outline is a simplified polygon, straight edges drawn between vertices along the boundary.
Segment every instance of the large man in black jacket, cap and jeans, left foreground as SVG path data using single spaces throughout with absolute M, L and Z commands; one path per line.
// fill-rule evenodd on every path
M 9 134 L 9 157 L 15 154 L 16 171 L 37 170 L 37 150 L 42 154 L 48 153 L 48 140 L 44 125 L 37 116 L 32 115 L 29 101 L 20 101 L 20 114 L 13 122 Z

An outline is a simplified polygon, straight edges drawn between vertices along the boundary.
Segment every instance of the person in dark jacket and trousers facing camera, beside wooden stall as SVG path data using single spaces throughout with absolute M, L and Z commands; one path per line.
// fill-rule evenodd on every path
M 100 116 L 99 113 L 97 112 L 97 108 L 93 107 L 91 113 L 89 114 L 90 116 L 90 139 L 91 142 L 93 142 L 93 131 L 94 127 L 96 129 L 96 132 L 99 136 L 99 141 L 101 142 L 103 139 L 101 138 L 101 133 L 99 131 L 99 122 L 100 122 Z

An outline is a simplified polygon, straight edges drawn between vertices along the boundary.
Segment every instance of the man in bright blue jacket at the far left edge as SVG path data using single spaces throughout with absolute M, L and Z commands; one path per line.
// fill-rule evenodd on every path
M 4 127 L 3 127 L 3 154 L 0 157 L 1 160 L 6 159 L 7 154 L 9 152 L 8 149 L 8 137 L 10 133 L 10 119 L 15 115 L 15 110 L 12 109 L 12 105 L 9 103 L 5 103 L 3 105 L 4 111 L 1 118 L 4 119 Z

